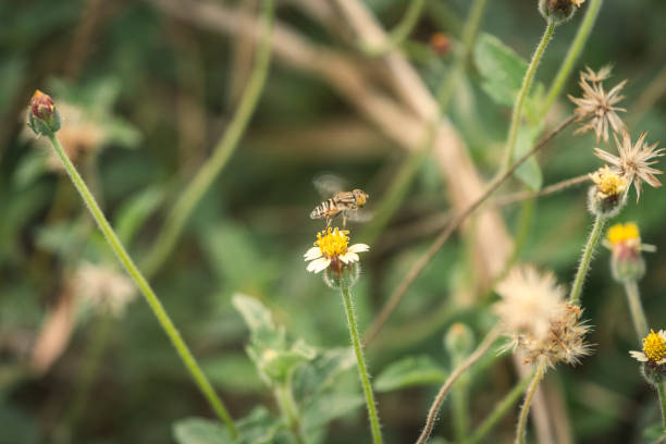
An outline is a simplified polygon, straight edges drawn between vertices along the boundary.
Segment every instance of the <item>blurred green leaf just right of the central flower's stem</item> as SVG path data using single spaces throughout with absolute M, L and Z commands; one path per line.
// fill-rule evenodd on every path
M 446 372 L 428 356 L 410 356 L 390 365 L 374 381 L 378 392 L 442 383 Z

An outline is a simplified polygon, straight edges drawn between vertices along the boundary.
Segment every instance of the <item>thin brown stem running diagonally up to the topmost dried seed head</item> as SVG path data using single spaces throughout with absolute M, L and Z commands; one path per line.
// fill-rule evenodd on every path
M 559 132 L 562 132 L 565 127 L 567 127 L 571 122 L 574 122 L 576 118 L 569 116 L 563 123 L 560 123 L 556 128 L 554 128 L 548 135 L 544 136 L 541 140 L 534 145 L 534 147 L 526 152 L 520 159 L 518 159 L 506 172 L 501 174 L 498 177 L 493 180 L 485 188 L 485 190 L 479 196 L 476 200 L 473 200 L 465 210 L 455 215 L 452 221 L 446 225 L 446 227 L 437 235 L 434 239 L 430 248 L 421 256 L 412 266 L 411 269 L 407 272 L 403 281 L 398 284 L 396 289 L 393 292 L 384 307 L 382 307 L 381 311 L 372 322 L 372 325 L 368 329 L 368 332 L 365 335 L 366 344 L 369 344 L 382 329 L 391 313 L 395 310 L 395 308 L 400 303 L 405 293 L 407 293 L 407 288 L 411 285 L 414 281 L 421 274 L 425 266 L 430 262 L 430 260 L 434 257 L 434 255 L 442 248 L 442 246 L 446 243 L 448 237 L 467 220 L 469 215 L 471 215 L 493 193 L 499 188 L 499 186 L 507 181 L 514 172 L 525 161 L 527 161 L 530 157 L 539 152 L 546 144 L 555 137 Z

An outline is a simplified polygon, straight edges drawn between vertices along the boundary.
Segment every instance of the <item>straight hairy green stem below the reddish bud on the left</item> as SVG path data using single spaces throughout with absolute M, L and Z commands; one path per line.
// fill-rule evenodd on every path
M 58 157 L 60 157 L 60 160 L 62 161 L 65 170 L 67 171 L 67 174 L 72 178 L 74 186 L 76 187 L 82 199 L 88 207 L 90 214 L 97 222 L 97 225 L 99 226 L 100 231 L 103 233 L 104 237 L 107 238 L 107 242 L 113 249 L 113 252 L 115 254 L 118 259 L 121 261 L 125 270 L 127 270 L 127 273 L 130 274 L 130 276 L 132 276 L 137 287 L 139 288 L 139 291 L 146 298 L 146 301 L 152 309 L 152 312 L 155 313 L 158 321 L 160 322 L 160 325 L 164 330 L 164 333 L 166 333 L 166 335 L 171 340 L 171 343 L 173 344 L 176 351 L 178 353 L 178 356 L 183 360 L 183 363 L 185 365 L 187 370 L 189 370 L 195 383 L 198 385 L 203 396 L 206 396 L 206 398 L 208 399 L 210 406 L 215 411 L 215 414 L 226 424 L 226 427 L 229 428 L 230 434 L 235 439 L 236 436 L 238 436 L 238 432 L 236 430 L 236 427 L 234 425 L 234 421 L 232 420 L 231 416 L 229 415 L 226 410 L 226 407 L 224 407 L 224 403 L 222 403 L 222 399 L 220 399 L 220 397 L 217 395 L 215 391 L 213 390 L 212 385 L 210 385 L 210 382 L 208 381 L 208 379 L 201 371 L 201 368 L 197 363 L 195 357 L 189 351 L 189 348 L 183 341 L 183 337 L 176 330 L 171 318 L 166 313 L 166 310 L 164 310 L 162 303 L 160 303 L 160 299 L 158 299 L 157 295 L 150 287 L 150 284 L 148 283 L 146 278 L 144 278 L 141 272 L 134 264 L 134 261 L 132 260 L 132 258 L 125 250 L 125 247 L 123 247 L 123 244 L 118 238 L 118 235 L 111 227 L 111 224 L 109 223 L 109 221 L 102 213 L 101 209 L 97 205 L 95 197 L 92 196 L 92 194 L 90 194 L 90 190 L 88 189 L 85 182 L 78 174 L 78 171 L 76 171 L 76 168 L 65 155 L 64 150 L 62 149 L 62 146 L 60 145 L 60 141 L 58 141 L 58 137 L 55 137 L 55 134 L 51 134 L 49 136 L 49 140 L 51 140 L 51 144 L 53 145 L 53 148 L 55 149 Z

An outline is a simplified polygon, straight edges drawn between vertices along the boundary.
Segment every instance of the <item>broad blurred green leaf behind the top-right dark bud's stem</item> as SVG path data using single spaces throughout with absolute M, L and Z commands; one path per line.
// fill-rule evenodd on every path
M 479 36 L 474 62 L 483 78 L 483 90 L 497 103 L 513 106 L 528 63 L 490 34 Z

